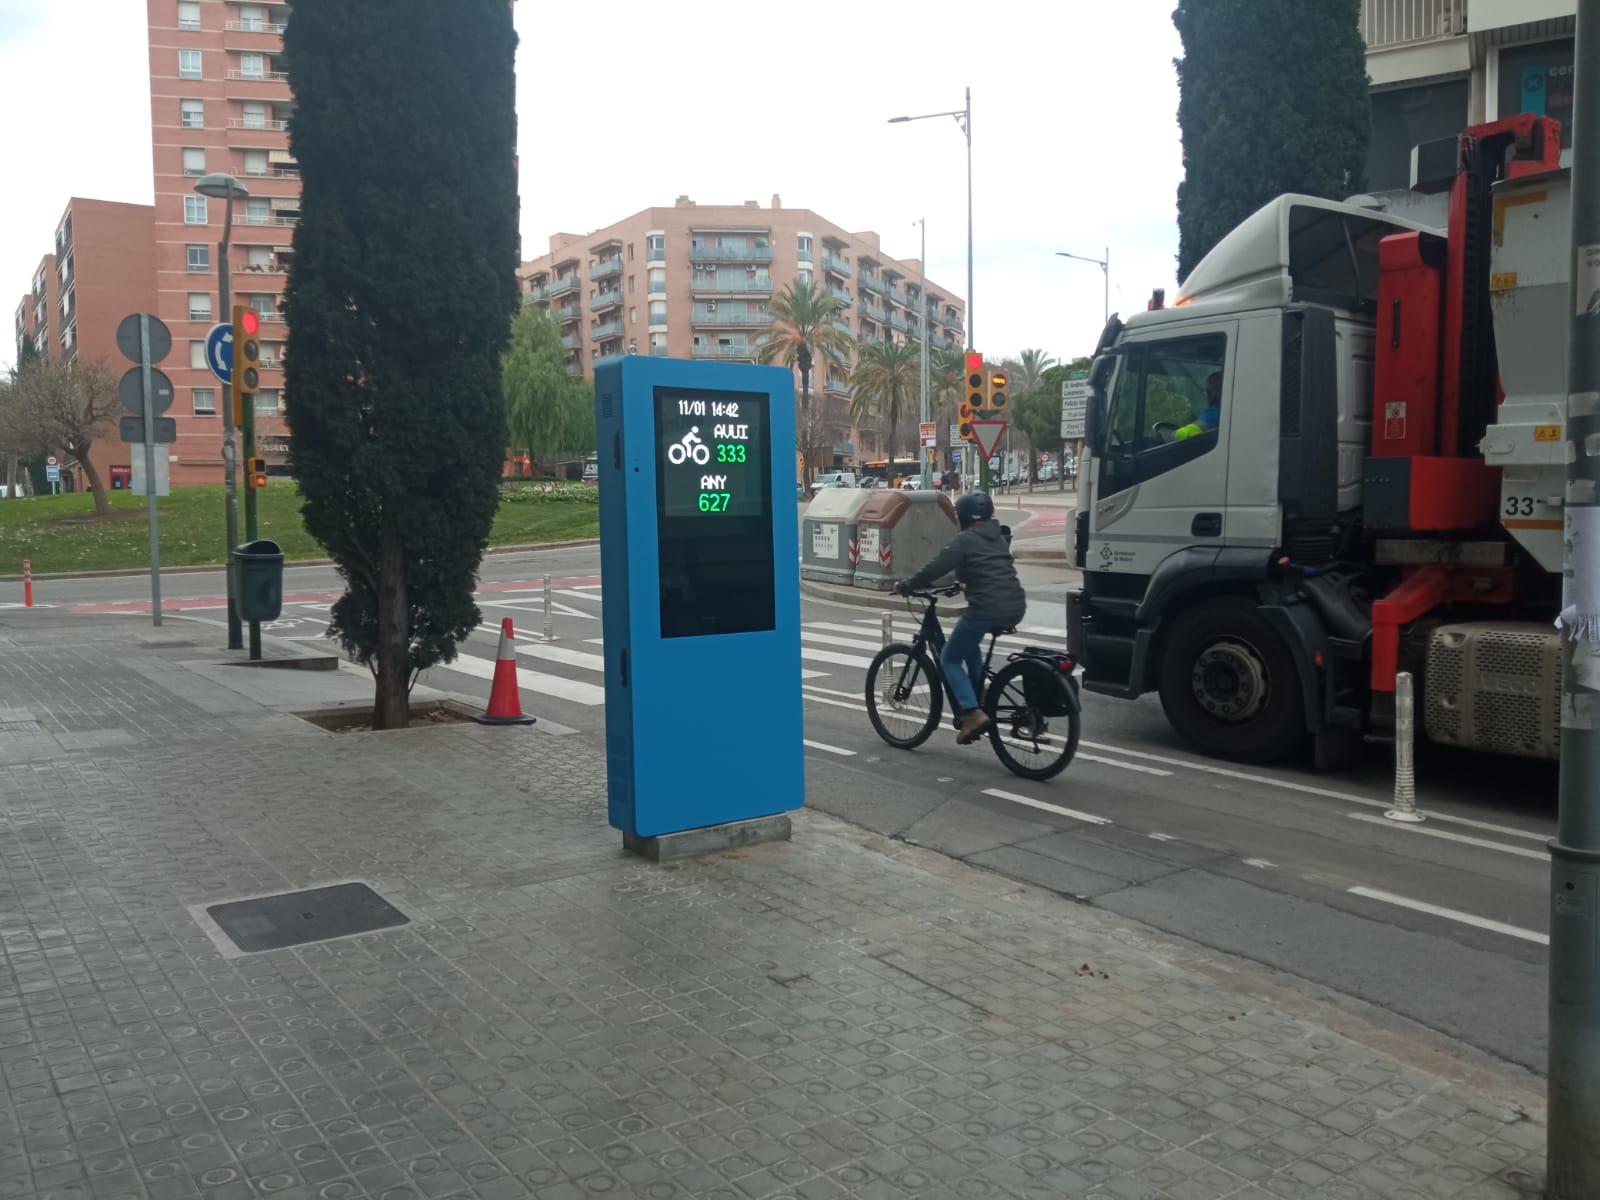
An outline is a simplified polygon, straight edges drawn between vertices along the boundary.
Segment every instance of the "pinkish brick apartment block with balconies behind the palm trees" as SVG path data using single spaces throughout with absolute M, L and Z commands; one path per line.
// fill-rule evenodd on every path
M 560 318 L 574 374 L 627 352 L 754 362 L 771 298 L 798 278 L 845 301 L 840 328 L 864 342 L 918 336 L 926 290 L 930 346 L 963 344 L 965 301 L 923 280 L 920 262 L 888 258 L 877 234 L 784 208 L 776 195 L 768 208 L 678 197 L 672 208 L 646 208 L 589 235 L 555 234 L 550 251 L 518 275 L 525 294 Z M 811 387 L 835 462 L 885 453 L 878 422 L 851 421 L 843 376 L 818 366 Z M 901 426 L 901 453 L 910 432 Z

